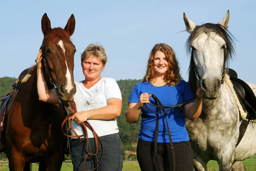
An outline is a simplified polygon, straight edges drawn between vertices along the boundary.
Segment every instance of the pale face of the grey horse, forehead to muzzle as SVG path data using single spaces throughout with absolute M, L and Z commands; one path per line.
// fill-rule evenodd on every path
M 225 41 L 216 33 L 202 34 L 191 43 L 201 87 L 209 99 L 216 99 L 221 87 Z

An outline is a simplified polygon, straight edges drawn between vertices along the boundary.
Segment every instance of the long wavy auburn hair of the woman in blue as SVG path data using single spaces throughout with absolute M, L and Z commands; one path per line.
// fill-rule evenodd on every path
M 155 69 L 153 67 L 154 64 L 154 55 L 157 51 L 161 51 L 164 53 L 165 57 L 167 58 L 168 68 L 165 72 L 163 80 L 166 82 L 167 85 L 173 86 L 180 84 L 180 68 L 178 61 L 175 56 L 174 50 L 165 43 L 156 44 L 150 52 L 148 58 L 148 67 L 146 71 L 146 75 L 143 78 L 143 81 L 149 82 L 154 79 Z

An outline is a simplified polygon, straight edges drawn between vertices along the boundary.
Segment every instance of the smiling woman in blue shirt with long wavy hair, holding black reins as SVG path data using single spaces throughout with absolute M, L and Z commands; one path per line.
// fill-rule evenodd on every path
M 186 81 L 181 79 L 180 69 L 173 49 L 165 44 L 156 44 L 151 50 L 146 75 L 131 92 L 126 119 L 128 123 L 138 121 L 140 112 L 141 129 L 137 145 L 137 159 L 142 171 L 169 171 L 173 168 L 171 143 L 175 151 L 176 171 L 193 171 L 193 154 L 189 135 L 185 127 L 185 118 L 196 120 L 202 110 L 203 91 L 198 85 L 197 98 L 181 107 L 176 107 L 165 115 L 159 115 L 156 149 L 157 114 L 156 107 L 145 103 L 155 103 L 151 94 L 157 96 L 164 106 L 174 106 L 193 97 L 192 90 Z M 171 143 L 168 136 L 166 121 L 169 125 Z

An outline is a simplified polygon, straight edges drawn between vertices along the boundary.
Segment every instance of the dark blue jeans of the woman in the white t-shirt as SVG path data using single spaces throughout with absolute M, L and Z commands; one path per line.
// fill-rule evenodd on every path
M 98 171 L 122 171 L 122 151 L 121 139 L 118 133 L 99 137 L 103 144 L 103 157 L 99 164 Z M 102 156 L 102 147 L 99 143 L 99 152 L 97 154 L 98 162 Z M 89 138 L 88 149 L 95 153 L 95 140 Z M 76 165 L 83 169 L 84 156 L 87 154 L 87 141 L 71 139 L 71 154 L 73 157 L 73 171 L 81 171 Z M 97 166 L 97 158 L 88 156 L 85 162 L 85 170 L 91 170 Z M 76 165 L 74 165 L 74 163 Z

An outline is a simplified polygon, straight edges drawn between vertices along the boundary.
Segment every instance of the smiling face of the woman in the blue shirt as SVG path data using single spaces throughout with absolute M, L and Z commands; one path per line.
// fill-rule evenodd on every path
M 168 70 L 168 61 L 163 52 L 158 50 L 155 53 L 153 67 L 155 70 L 155 77 L 164 75 Z

